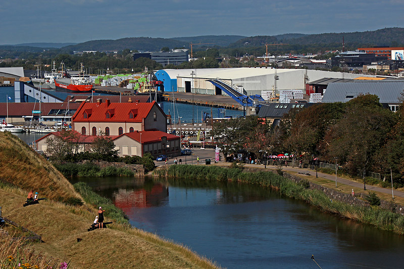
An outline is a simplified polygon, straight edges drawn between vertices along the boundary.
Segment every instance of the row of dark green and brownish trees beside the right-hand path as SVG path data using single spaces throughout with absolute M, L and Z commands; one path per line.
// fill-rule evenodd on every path
M 346 103 L 293 108 L 277 125 L 257 116 L 219 123 L 212 131 L 224 155 L 247 150 L 257 158 L 288 153 L 298 159 L 339 164 L 356 176 L 380 173 L 404 183 L 404 112 L 383 108 L 376 95 Z

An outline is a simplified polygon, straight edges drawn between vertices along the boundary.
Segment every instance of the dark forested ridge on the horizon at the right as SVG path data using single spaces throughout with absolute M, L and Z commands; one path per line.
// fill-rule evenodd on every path
M 299 36 L 300 35 L 300 36 Z M 283 41 L 296 46 L 311 45 L 338 45 L 342 46 L 342 37 L 345 45 L 351 47 L 360 46 L 402 46 L 404 44 L 404 28 L 384 28 L 375 31 L 351 32 L 351 33 L 324 33 L 324 34 L 284 34 L 277 36 L 252 36 L 240 39 L 229 47 L 258 47 L 265 43 L 277 43 Z

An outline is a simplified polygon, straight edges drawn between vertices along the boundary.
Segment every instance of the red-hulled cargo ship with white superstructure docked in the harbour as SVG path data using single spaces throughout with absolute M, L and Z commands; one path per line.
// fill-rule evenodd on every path
M 84 75 L 83 63 L 80 63 L 80 72 L 78 75 L 71 75 L 70 78 L 55 79 L 55 86 L 57 91 L 64 92 L 91 92 L 92 90 L 91 78 L 89 75 Z

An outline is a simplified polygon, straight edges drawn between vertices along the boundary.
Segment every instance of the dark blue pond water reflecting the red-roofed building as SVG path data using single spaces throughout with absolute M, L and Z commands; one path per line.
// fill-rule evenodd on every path
M 75 178 L 140 229 L 227 268 L 403 268 L 404 237 L 343 220 L 259 186 Z

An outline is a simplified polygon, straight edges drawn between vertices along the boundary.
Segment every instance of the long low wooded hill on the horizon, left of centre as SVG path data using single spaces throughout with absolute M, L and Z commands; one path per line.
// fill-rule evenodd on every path
M 119 51 L 126 48 L 130 50 L 160 51 L 163 47 L 189 47 L 187 42 L 167 38 L 127 37 L 117 40 L 92 40 L 84 43 L 61 48 L 62 51 Z

